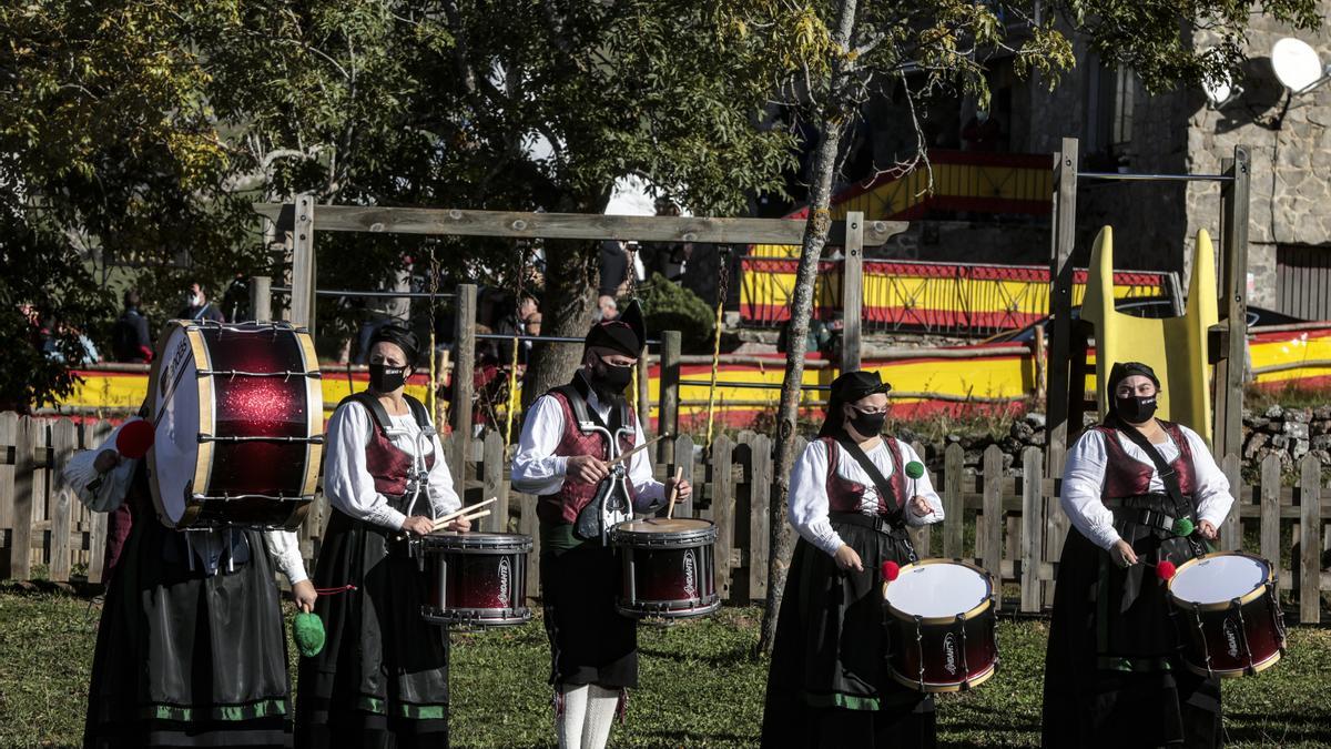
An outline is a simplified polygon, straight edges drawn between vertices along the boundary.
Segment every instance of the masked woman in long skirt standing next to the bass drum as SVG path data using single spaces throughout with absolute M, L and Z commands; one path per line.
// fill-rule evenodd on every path
M 461 506 L 443 448 L 421 401 L 406 394 L 414 333 L 381 325 L 370 339 L 370 388 L 329 420 L 323 492 L 333 508 L 314 568 L 323 650 L 301 658 L 295 744 L 302 748 L 449 745 L 449 630 L 427 622 L 429 572 L 411 536 Z M 441 530 L 469 530 L 455 520 Z

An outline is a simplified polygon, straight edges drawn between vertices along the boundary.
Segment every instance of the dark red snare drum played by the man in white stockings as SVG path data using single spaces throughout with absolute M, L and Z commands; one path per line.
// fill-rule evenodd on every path
M 707 520 L 620 522 L 610 533 L 624 565 L 615 609 L 630 617 L 684 618 L 721 606 L 716 594 L 716 526 Z

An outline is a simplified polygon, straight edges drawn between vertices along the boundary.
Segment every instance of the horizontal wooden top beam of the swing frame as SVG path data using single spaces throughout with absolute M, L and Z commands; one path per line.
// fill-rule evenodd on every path
M 281 225 L 285 205 L 257 203 L 254 211 Z M 299 205 L 295 221 L 299 225 Z M 473 237 L 567 240 L 697 241 L 788 244 L 804 240 L 804 221 L 788 219 L 709 219 L 697 216 L 602 216 L 598 213 L 519 213 L 459 208 L 381 208 L 319 205 L 319 229 Z M 861 221 L 864 247 L 878 247 L 906 231 L 906 221 Z M 299 232 L 297 232 L 298 235 Z M 845 245 L 844 224 L 833 224 L 828 244 Z

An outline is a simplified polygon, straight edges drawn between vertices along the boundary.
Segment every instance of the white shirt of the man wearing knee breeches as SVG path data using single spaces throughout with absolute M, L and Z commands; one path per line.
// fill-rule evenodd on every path
M 610 420 L 610 404 L 602 402 L 596 393 L 587 396 L 590 405 L 602 421 Z M 512 488 L 527 494 L 554 494 L 564 484 L 568 458 L 556 456 L 555 448 L 564 436 L 564 408 L 554 396 L 540 396 L 527 413 L 518 438 L 518 453 L 512 458 Z M 642 425 L 634 430 L 634 444 L 646 441 Z M 640 450 L 628 458 L 628 480 L 638 493 L 635 504 L 647 508 L 666 496 L 666 485 L 652 477 L 652 461 Z M 603 457 L 603 456 L 598 456 Z

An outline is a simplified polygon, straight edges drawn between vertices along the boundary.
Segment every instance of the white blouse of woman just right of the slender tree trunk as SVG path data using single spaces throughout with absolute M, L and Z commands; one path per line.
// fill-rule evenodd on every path
M 920 461 L 920 456 L 916 454 L 910 445 L 905 442 L 897 444 L 901 446 L 901 460 L 906 462 Z M 868 458 L 873 461 L 873 465 L 882 472 L 884 478 L 892 477 L 892 472 L 896 470 L 896 466 L 892 464 L 892 453 L 888 450 L 888 445 L 885 442 L 880 441 L 873 449 L 865 450 L 865 456 L 868 456 Z M 873 485 L 869 476 L 862 468 L 860 468 L 858 461 L 847 454 L 845 450 L 840 450 L 837 456 L 836 473 L 841 478 L 864 485 L 864 496 L 860 497 L 860 513 L 878 513 L 877 486 Z M 823 440 L 816 440 L 804 448 L 804 453 L 795 461 L 795 470 L 791 473 L 791 525 L 795 526 L 805 541 L 823 549 L 828 554 L 835 554 L 836 550 L 841 548 L 844 541 L 841 541 L 841 536 L 832 529 L 832 521 L 828 518 L 829 504 L 827 478 L 828 449 Z M 906 508 L 905 518 L 908 525 L 929 525 L 933 522 L 942 522 L 942 500 L 938 498 L 938 493 L 933 489 L 933 482 L 929 480 L 928 470 L 920 478 L 906 478 L 906 488 L 912 496 L 924 497 L 929 502 L 929 508 L 933 510 L 932 513 L 921 517 Z

